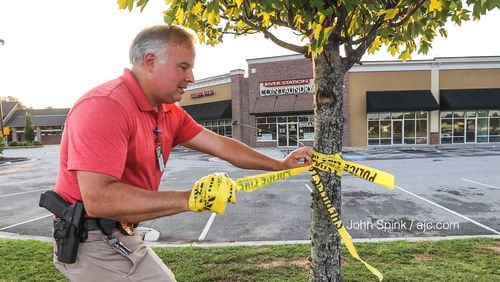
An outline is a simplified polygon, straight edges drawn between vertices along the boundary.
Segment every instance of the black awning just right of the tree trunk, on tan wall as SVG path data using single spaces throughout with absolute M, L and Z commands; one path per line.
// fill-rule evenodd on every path
M 411 112 L 439 109 L 429 90 L 367 91 L 366 112 Z

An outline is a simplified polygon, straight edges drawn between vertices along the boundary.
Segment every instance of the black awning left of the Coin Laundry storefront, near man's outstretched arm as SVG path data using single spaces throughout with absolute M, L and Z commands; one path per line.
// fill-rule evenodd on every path
M 182 107 L 195 120 L 213 120 L 232 118 L 231 100 Z

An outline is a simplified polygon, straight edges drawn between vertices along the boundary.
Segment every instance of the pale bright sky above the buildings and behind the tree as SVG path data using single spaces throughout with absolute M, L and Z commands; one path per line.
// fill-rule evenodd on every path
M 162 24 L 164 0 L 150 0 L 142 13 L 119 10 L 116 0 L 0 0 L 0 97 L 13 96 L 41 109 L 69 108 L 85 92 L 130 67 L 128 48 L 144 27 Z M 448 26 L 425 56 L 500 56 L 500 12 Z M 291 40 L 289 35 L 287 38 Z M 289 55 L 261 34 L 224 37 L 215 47 L 197 48 L 196 79 L 247 71 L 247 59 Z M 362 61 L 397 60 L 385 52 Z

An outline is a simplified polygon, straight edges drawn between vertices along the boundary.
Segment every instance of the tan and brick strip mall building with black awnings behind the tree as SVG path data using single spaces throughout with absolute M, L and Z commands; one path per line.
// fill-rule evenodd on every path
M 314 82 L 302 55 L 249 59 L 181 101 L 207 128 L 253 147 L 313 140 Z M 363 62 L 345 77 L 344 146 L 500 142 L 500 56 Z

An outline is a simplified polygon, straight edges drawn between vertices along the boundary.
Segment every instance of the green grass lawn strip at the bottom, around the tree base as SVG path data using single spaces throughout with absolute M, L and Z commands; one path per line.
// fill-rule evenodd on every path
M 500 281 L 500 239 L 357 243 L 384 281 Z M 154 248 L 183 281 L 308 281 L 309 245 Z M 344 281 L 377 281 L 343 249 Z M 0 239 L 0 281 L 65 281 L 52 245 Z

